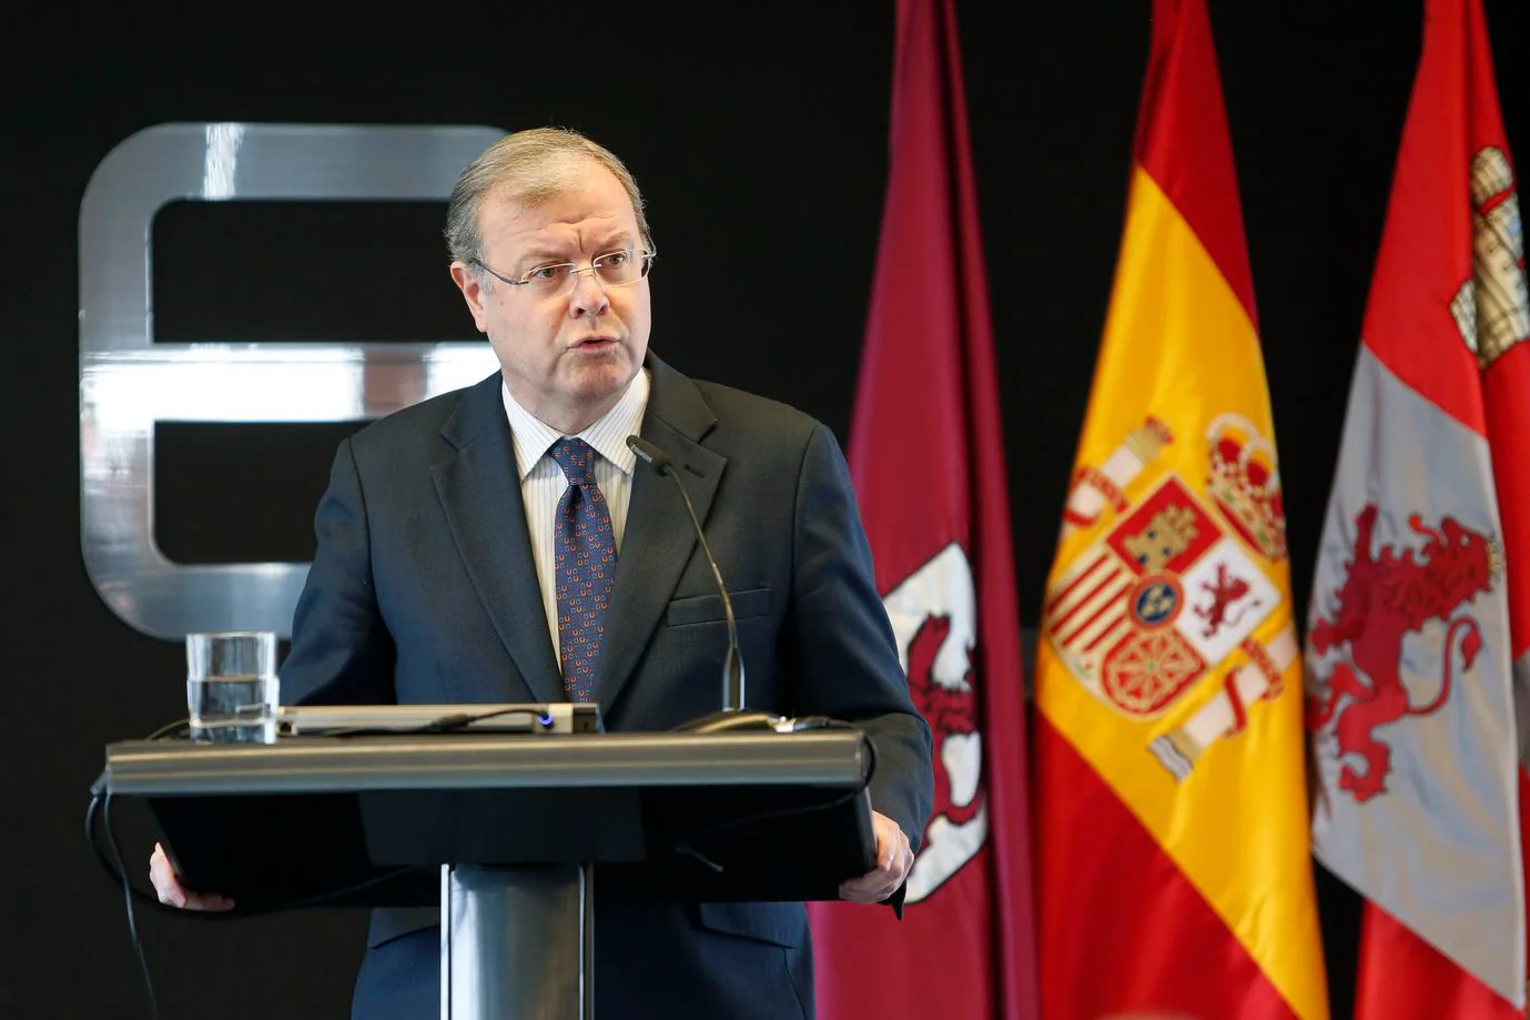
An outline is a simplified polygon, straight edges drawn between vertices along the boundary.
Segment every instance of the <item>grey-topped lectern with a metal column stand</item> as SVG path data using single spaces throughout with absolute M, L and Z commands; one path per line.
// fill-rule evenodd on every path
M 442 1020 L 592 1020 L 597 876 L 837 899 L 875 864 L 874 767 L 852 727 L 453 732 L 124 741 L 104 778 L 147 803 L 188 888 L 240 910 L 436 907 Z

